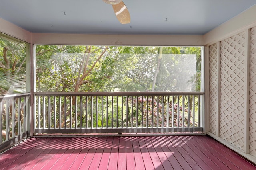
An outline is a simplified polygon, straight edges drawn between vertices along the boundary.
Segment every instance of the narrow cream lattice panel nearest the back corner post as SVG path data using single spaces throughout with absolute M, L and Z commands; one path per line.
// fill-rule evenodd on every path
M 217 113 L 218 113 L 218 47 L 217 43 L 210 46 L 210 129 L 209 131 L 217 135 Z

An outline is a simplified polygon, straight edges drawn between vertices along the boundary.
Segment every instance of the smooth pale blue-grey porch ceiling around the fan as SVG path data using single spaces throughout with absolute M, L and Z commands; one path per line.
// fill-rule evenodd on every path
M 256 4 L 256 0 L 123 2 L 131 16 L 126 25 L 102 0 L 0 0 L 0 18 L 34 33 L 203 35 Z

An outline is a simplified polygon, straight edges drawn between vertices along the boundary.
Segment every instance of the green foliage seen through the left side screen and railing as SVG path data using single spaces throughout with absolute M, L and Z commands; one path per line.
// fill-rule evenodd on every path
M 8 39 L 0 33 L 0 95 L 26 92 L 26 51 L 25 43 Z M 22 98 L 20 107 L 24 106 L 24 102 L 26 101 Z M 0 114 L 2 116 L 0 124 L 3 141 L 5 141 L 6 137 L 18 134 L 18 116 L 22 126 L 24 110 L 21 109 L 18 113 L 15 108 L 18 100 L 15 99 L 12 102 L 10 99 L 3 98 L 1 103 L 3 108 Z M 6 131 L 7 122 L 9 122 L 9 131 Z M 15 134 L 12 134 L 12 125 L 14 125 Z

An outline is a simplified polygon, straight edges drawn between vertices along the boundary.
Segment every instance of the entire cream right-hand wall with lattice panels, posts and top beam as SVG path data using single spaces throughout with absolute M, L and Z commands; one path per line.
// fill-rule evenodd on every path
M 256 6 L 204 35 L 204 43 L 206 133 L 256 163 Z

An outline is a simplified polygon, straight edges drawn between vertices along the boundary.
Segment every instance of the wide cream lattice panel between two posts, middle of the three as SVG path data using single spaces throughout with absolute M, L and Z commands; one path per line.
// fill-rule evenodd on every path
M 221 41 L 220 137 L 244 149 L 245 33 Z

